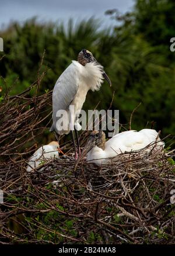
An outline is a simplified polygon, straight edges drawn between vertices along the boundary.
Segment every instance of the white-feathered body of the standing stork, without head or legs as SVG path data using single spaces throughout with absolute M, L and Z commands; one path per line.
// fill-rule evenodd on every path
M 92 91 L 100 89 L 103 82 L 103 73 L 103 67 L 96 62 L 82 65 L 78 61 L 72 61 L 68 68 L 60 75 L 54 87 L 53 126 L 51 131 L 55 130 L 58 134 L 69 133 L 69 105 L 75 107 L 75 113 L 72 116 L 73 127 L 76 124 L 77 129 L 81 129 L 77 119 L 85 102 L 86 94 L 89 89 L 92 89 Z M 59 119 L 57 116 L 58 110 L 65 110 L 68 114 L 63 119 L 67 129 L 62 129 L 57 123 Z

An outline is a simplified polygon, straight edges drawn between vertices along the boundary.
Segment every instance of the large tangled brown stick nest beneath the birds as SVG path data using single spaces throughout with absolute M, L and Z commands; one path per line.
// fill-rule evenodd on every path
M 29 88 L 1 103 L 0 243 L 173 244 L 173 150 L 121 154 L 103 167 L 83 159 L 75 170 L 68 141 L 65 155 L 26 172 L 50 126 L 51 92 L 39 96 L 39 84 L 33 97 Z

